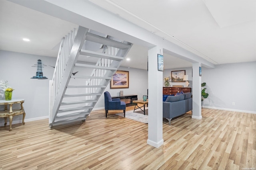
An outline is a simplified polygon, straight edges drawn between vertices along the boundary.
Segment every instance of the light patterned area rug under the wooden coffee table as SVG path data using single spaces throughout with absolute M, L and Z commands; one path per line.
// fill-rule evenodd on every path
M 147 111 L 148 109 L 145 110 L 146 114 L 147 114 Z M 116 115 L 124 117 L 124 113 L 116 113 Z M 139 121 L 142 123 L 148 123 L 148 115 L 144 115 L 143 111 L 141 111 L 140 109 L 136 109 L 135 112 L 133 112 L 133 110 L 126 111 L 125 118 Z

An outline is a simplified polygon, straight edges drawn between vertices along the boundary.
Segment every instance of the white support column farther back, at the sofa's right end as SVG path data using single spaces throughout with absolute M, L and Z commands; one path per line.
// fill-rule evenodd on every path
M 193 63 L 193 105 L 192 118 L 202 119 L 201 110 L 201 76 L 199 76 L 199 67 L 201 63 Z

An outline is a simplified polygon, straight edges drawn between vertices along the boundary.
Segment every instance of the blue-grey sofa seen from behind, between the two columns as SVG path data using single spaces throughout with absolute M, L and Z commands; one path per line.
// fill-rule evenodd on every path
M 188 92 L 166 98 L 166 101 L 163 102 L 163 117 L 169 121 L 169 125 L 171 125 L 172 118 L 192 111 L 191 96 L 192 94 Z

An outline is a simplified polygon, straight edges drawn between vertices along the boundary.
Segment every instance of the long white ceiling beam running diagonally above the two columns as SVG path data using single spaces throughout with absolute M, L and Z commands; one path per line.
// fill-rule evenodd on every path
M 66 20 L 83 27 L 88 27 L 98 32 L 105 33 L 131 43 L 136 43 L 144 47 L 154 47 L 160 45 L 166 51 L 178 54 L 204 64 L 209 68 L 214 68 L 214 64 L 199 55 L 196 55 L 178 45 L 159 37 L 144 28 L 126 21 L 95 4 L 88 1 L 56 1 L 56 0 L 10 0 L 11 2 L 26 6 L 33 10 L 43 12 L 50 16 Z

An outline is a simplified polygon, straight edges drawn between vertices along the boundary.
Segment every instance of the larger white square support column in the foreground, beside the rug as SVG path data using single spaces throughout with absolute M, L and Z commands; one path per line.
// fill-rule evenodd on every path
M 163 72 L 158 71 L 160 47 L 148 50 L 148 140 L 153 147 L 164 144 L 163 139 Z

